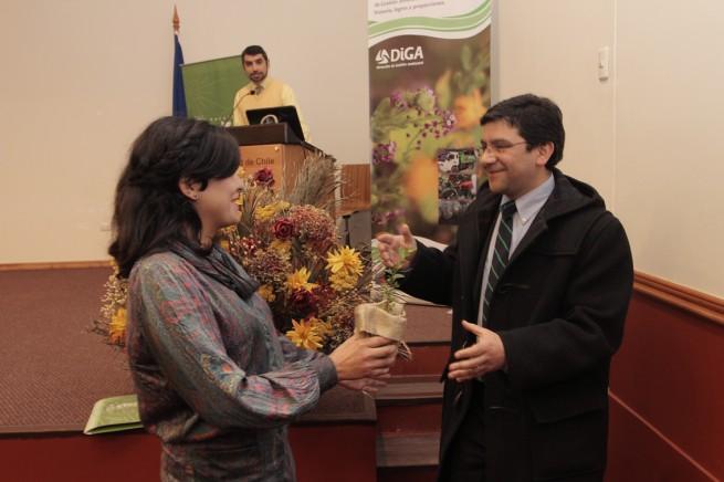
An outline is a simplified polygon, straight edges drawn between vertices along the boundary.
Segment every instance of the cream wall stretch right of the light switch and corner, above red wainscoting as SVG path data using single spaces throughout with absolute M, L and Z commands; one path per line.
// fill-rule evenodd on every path
M 617 207 L 637 269 L 724 297 L 724 3 L 618 3 Z

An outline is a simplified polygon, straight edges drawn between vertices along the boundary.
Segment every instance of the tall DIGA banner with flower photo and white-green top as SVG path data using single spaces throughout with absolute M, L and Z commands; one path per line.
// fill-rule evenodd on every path
M 447 241 L 490 106 L 491 0 L 368 0 L 374 229 Z

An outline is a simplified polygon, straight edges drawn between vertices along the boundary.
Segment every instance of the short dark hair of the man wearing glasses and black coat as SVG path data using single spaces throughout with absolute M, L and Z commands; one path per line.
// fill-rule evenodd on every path
M 545 143 L 553 143 L 554 151 L 546 163 L 548 169 L 563 158 L 566 130 L 563 127 L 563 113 L 549 98 L 524 94 L 499 102 L 480 119 L 481 125 L 505 120 L 518 129 L 521 137 L 531 150 Z

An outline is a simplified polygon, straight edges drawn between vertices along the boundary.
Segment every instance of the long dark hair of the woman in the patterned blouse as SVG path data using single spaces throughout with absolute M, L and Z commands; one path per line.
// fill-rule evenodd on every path
M 181 179 L 203 190 L 210 179 L 238 168 L 239 147 L 221 127 L 183 117 L 161 117 L 146 127 L 116 187 L 108 253 L 119 275 L 127 277 L 136 261 L 172 241 L 198 241 L 201 220 L 179 189 Z

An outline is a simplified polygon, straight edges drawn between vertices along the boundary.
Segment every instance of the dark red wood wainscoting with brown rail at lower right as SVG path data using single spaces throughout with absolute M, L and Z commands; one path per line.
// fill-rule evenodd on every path
M 724 480 L 724 301 L 637 273 L 610 401 L 608 481 Z

